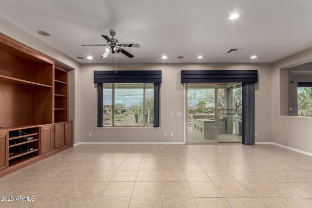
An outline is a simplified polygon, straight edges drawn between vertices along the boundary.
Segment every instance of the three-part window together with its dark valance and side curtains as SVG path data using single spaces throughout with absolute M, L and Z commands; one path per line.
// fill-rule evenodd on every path
M 94 71 L 97 127 L 160 127 L 161 70 Z

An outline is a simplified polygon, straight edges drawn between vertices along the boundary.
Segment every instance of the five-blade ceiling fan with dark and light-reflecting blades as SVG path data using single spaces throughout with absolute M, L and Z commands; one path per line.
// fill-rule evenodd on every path
M 119 43 L 119 41 L 115 38 L 116 32 L 111 31 L 110 34 L 112 38 L 101 35 L 103 38 L 106 39 L 107 44 L 91 44 L 91 45 L 81 45 L 81 46 L 109 46 L 109 48 L 106 48 L 104 54 L 102 55 L 103 58 L 107 57 L 111 52 L 112 54 L 121 52 L 122 54 L 126 55 L 129 58 L 133 58 L 134 56 L 132 54 L 123 50 L 122 48 L 123 47 L 140 48 L 140 45 L 134 44 L 134 43 Z

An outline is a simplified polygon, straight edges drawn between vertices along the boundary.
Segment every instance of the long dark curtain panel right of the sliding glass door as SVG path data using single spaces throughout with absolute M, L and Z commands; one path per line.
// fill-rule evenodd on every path
M 242 84 L 242 102 L 242 143 L 245 145 L 254 145 L 254 83 Z

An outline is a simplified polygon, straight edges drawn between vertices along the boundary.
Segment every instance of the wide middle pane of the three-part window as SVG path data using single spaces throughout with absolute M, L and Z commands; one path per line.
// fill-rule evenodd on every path
M 115 84 L 115 126 L 143 126 L 143 83 Z

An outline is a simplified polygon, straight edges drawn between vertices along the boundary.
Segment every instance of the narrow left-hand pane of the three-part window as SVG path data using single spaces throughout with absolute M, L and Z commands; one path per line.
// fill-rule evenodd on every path
M 104 84 L 103 86 L 103 125 L 112 126 L 113 113 L 112 113 L 112 100 L 113 100 L 113 88 L 112 84 Z

